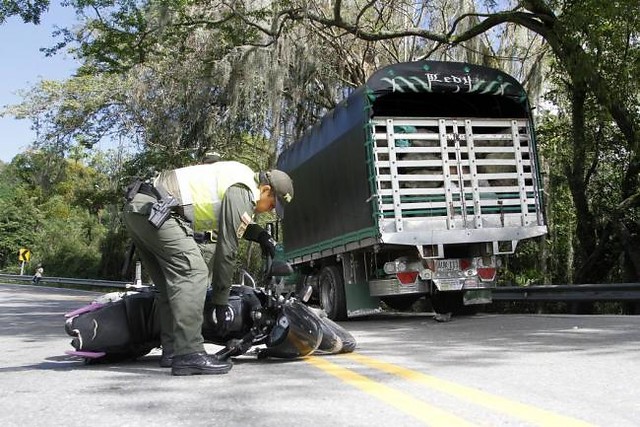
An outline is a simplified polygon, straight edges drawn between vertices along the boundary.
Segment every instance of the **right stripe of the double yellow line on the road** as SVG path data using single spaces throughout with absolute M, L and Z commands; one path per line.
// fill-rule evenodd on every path
M 544 409 L 509 400 L 491 393 L 442 380 L 431 375 L 412 371 L 391 363 L 382 362 L 371 357 L 363 356 L 362 354 L 351 353 L 345 354 L 343 357 L 354 360 L 362 365 L 418 382 L 432 389 L 484 406 L 491 410 L 514 416 L 532 424 L 562 427 L 586 427 L 592 425 L 575 418 L 558 415 Z

